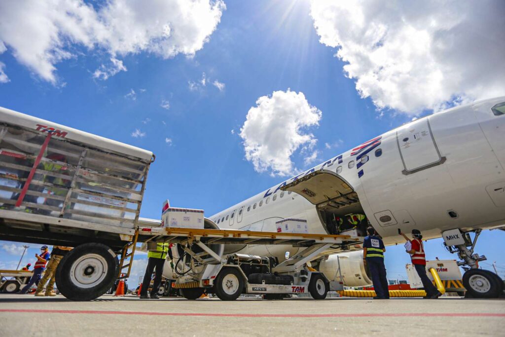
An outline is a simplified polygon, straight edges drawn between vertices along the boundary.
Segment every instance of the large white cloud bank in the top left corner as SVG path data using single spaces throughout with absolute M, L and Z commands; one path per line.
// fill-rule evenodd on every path
M 7 45 L 18 62 L 57 83 L 56 64 L 76 47 L 106 52 L 111 65 L 93 77 L 107 79 L 126 67 L 117 56 L 153 53 L 164 59 L 193 56 L 203 48 L 226 9 L 222 0 L 83 0 L 0 2 L 0 54 Z

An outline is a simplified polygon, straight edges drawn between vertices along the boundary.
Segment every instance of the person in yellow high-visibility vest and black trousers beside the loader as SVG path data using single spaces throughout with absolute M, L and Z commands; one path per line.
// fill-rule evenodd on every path
M 149 288 L 149 283 L 151 281 L 151 275 L 156 269 L 155 279 L 153 282 L 153 288 L 151 289 L 150 298 L 158 300 L 158 291 L 160 290 L 161 277 L 163 275 L 163 267 L 167 259 L 167 254 L 169 254 L 170 244 L 161 243 L 156 244 L 156 251 L 147 252 L 147 267 L 145 268 L 144 279 L 142 281 L 142 289 L 140 290 L 140 298 L 148 299 L 147 289 Z M 170 252 L 171 253 L 171 252 Z M 171 257 L 172 254 L 170 254 Z

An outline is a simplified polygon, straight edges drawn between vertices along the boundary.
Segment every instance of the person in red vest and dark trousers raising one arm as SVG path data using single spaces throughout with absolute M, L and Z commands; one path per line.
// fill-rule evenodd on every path
M 409 241 L 412 245 L 411 250 L 407 251 L 411 255 L 412 265 L 416 268 L 417 274 L 421 278 L 421 282 L 423 282 L 424 290 L 426 291 L 425 299 L 437 299 L 442 296 L 437 288 L 430 281 L 428 276 L 426 275 L 426 255 L 424 253 L 423 247 L 423 235 L 421 235 L 421 231 L 418 229 L 412 230 L 412 238 L 410 240 L 407 235 L 400 232 L 400 235 L 403 236 L 407 241 Z

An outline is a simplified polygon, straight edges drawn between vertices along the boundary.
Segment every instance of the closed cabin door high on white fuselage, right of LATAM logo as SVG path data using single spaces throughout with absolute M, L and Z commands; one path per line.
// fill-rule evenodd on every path
M 396 131 L 403 174 L 412 174 L 445 162 L 431 132 L 428 118 L 404 125 Z

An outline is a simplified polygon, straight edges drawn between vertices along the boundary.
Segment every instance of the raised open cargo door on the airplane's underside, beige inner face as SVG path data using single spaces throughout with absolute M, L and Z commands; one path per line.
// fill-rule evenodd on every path
M 312 172 L 282 186 L 281 190 L 296 192 L 319 208 L 342 208 L 359 203 L 355 190 L 338 174 L 329 170 Z

